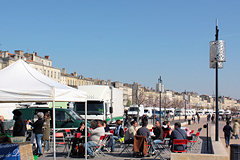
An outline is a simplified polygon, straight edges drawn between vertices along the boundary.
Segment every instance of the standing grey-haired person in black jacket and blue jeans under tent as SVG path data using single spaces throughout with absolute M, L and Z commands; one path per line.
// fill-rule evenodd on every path
M 43 137 L 43 113 L 42 112 L 38 112 L 37 113 L 37 117 L 38 120 L 34 123 L 32 123 L 31 121 L 29 121 L 29 124 L 33 127 L 33 133 L 35 134 L 35 138 L 37 141 L 37 154 L 38 157 L 42 156 L 42 137 Z

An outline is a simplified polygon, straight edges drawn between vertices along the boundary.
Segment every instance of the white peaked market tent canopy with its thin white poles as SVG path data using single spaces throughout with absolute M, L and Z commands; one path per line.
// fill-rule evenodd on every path
M 0 77 L 0 103 L 53 102 L 53 135 L 55 135 L 55 101 L 86 101 L 85 92 L 48 78 L 21 59 L 0 70 Z M 85 123 L 87 123 L 86 115 Z M 55 136 L 53 137 L 55 159 Z

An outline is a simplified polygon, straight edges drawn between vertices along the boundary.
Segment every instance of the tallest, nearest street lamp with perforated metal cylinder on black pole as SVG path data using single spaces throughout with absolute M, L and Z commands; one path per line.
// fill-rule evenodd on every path
M 225 57 L 225 42 L 223 40 L 218 40 L 218 21 L 216 21 L 216 34 L 215 41 L 210 42 L 210 68 L 216 69 L 216 131 L 215 140 L 219 141 L 219 114 L 218 114 L 218 69 L 223 68 L 223 62 L 226 62 Z

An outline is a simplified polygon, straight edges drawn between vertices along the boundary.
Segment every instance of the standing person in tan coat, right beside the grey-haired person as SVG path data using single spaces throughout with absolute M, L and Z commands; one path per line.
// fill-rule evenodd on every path
M 43 123 L 43 141 L 44 141 L 44 150 L 49 151 L 50 146 L 49 146 L 49 137 L 50 137 L 50 113 L 45 113 L 44 115 L 44 123 Z

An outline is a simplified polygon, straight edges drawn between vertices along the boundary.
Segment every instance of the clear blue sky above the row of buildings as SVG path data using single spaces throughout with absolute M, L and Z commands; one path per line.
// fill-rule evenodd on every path
M 240 99 L 240 1 L 0 1 L 0 50 L 49 55 L 84 77 L 213 95 L 209 42 L 226 41 L 219 95 Z

